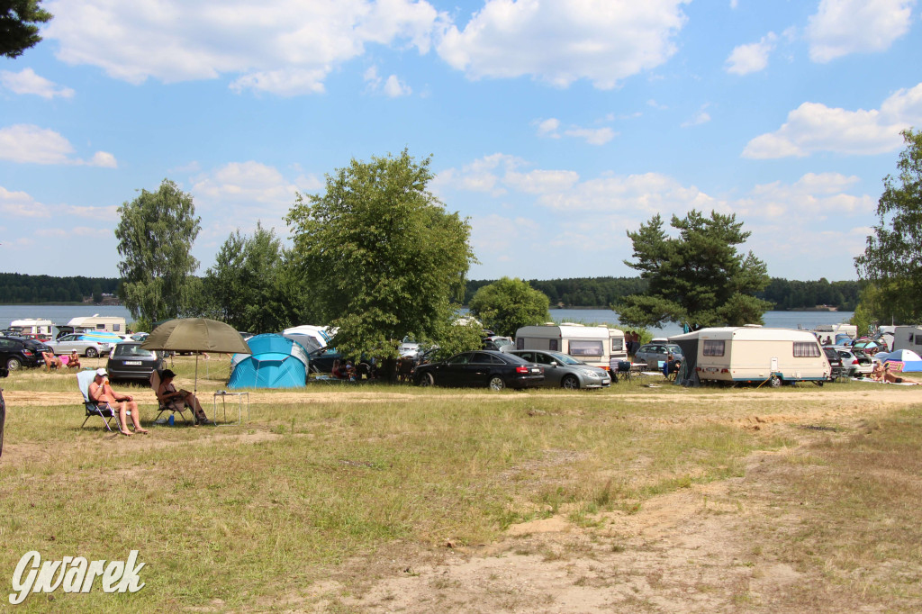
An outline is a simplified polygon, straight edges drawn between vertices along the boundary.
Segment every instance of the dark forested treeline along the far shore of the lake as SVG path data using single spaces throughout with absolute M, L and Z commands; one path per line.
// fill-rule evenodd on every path
M 474 293 L 495 279 L 467 281 L 464 303 Z M 528 279 L 532 288 L 548 295 L 553 307 L 609 308 L 621 297 L 643 293 L 646 282 L 640 277 L 571 277 L 567 279 Z M 82 302 L 92 297 L 99 302 L 101 294 L 116 294 L 121 280 L 118 277 L 52 277 L 0 273 L 0 303 L 33 304 L 44 302 Z M 812 309 L 819 305 L 835 307 L 841 311 L 855 311 L 859 282 L 798 281 L 773 277 L 768 287 L 757 296 L 771 301 L 775 310 Z

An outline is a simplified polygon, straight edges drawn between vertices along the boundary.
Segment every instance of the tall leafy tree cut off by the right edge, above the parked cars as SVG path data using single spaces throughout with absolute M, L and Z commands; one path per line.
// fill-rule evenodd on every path
M 903 139 L 899 174 L 883 180 L 878 223 L 855 267 L 875 287 L 862 293 L 859 309 L 881 322 L 908 324 L 922 319 L 922 131 L 904 130 Z

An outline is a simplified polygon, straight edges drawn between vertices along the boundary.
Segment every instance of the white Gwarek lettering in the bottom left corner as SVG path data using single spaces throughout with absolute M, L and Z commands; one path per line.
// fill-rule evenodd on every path
M 14 606 L 31 593 L 53 593 L 59 587 L 65 593 L 89 593 L 98 577 L 103 593 L 136 593 L 144 588 L 137 575 L 147 563 L 136 563 L 137 550 L 128 561 L 87 561 L 83 557 L 65 557 L 62 561 L 41 562 L 41 555 L 31 550 L 22 555 L 13 573 L 13 590 L 9 602 Z M 29 573 L 26 573 L 29 570 Z M 25 577 L 24 577 L 25 574 Z

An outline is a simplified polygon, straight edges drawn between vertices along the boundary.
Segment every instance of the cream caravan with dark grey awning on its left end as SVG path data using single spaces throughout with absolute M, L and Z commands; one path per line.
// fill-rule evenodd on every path
M 770 385 L 825 382 L 832 367 L 813 333 L 788 328 L 703 328 L 669 337 L 685 354 L 686 379 Z

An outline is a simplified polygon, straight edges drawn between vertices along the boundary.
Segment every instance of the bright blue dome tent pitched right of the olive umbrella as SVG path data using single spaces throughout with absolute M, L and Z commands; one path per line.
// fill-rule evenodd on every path
M 307 351 L 281 335 L 246 341 L 253 354 L 234 354 L 229 388 L 297 388 L 307 383 Z

